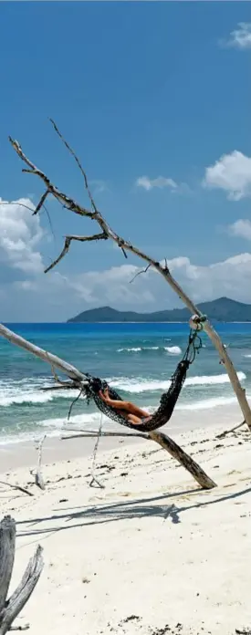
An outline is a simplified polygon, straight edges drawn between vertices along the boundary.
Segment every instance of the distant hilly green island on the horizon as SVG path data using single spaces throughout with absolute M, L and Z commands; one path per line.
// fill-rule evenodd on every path
M 251 305 L 219 297 L 212 302 L 198 304 L 202 313 L 216 322 L 251 322 Z M 187 308 L 172 308 L 154 313 L 118 311 L 111 307 L 91 308 L 71 317 L 68 322 L 187 322 L 191 313 Z

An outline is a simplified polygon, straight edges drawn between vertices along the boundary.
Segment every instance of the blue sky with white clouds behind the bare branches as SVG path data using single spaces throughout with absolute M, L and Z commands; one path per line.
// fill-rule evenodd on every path
M 43 192 L 22 174 L 11 134 L 87 203 L 53 117 L 119 234 L 167 257 L 196 301 L 251 302 L 249 3 L 19 2 L 1 3 L 0 16 L 2 201 L 36 203 Z M 58 203 L 48 210 L 55 239 L 45 213 L 0 205 L 2 319 L 178 306 L 151 272 L 129 285 L 141 263 L 110 243 L 73 245 L 44 276 L 63 235 L 92 230 Z

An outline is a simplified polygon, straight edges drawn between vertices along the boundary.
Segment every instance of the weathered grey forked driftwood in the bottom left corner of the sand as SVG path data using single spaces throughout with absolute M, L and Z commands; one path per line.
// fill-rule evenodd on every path
M 38 545 L 34 556 L 29 560 L 21 582 L 7 599 L 12 577 L 16 549 L 16 522 L 7 515 L 0 523 L 0 635 L 5 635 L 12 627 L 17 615 L 30 598 L 40 578 L 43 562 L 43 549 Z M 18 629 L 19 630 L 19 629 Z

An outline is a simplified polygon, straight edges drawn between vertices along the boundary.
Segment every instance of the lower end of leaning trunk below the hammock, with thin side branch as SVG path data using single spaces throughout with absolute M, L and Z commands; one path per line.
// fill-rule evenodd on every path
M 68 427 L 68 430 L 70 428 Z M 73 430 L 73 428 L 71 428 L 71 430 Z M 102 437 L 136 437 L 136 438 L 141 438 L 141 439 L 145 439 L 146 441 L 155 441 L 156 443 L 159 443 L 159 445 L 162 446 L 162 448 L 164 450 L 166 450 L 169 454 L 171 454 L 171 456 L 173 456 L 173 459 L 176 459 L 176 461 L 178 461 L 178 463 L 180 463 L 181 465 L 183 465 L 184 469 L 187 470 L 187 472 L 189 472 L 190 474 L 192 474 L 194 480 L 201 485 L 201 487 L 203 489 L 213 489 L 213 487 L 217 487 L 217 485 L 214 483 L 214 481 L 210 478 L 210 476 L 207 476 L 207 474 L 205 474 L 204 470 L 201 468 L 201 466 L 196 463 L 195 461 L 193 461 L 192 457 L 189 456 L 189 454 L 187 454 L 186 452 L 184 452 L 184 450 L 180 447 L 180 445 L 178 445 L 178 443 L 174 442 L 173 439 L 171 439 L 171 437 L 167 436 L 167 434 L 164 434 L 163 432 L 158 432 L 158 431 L 154 431 L 154 432 L 97 432 L 97 431 L 91 431 L 91 430 L 83 430 L 82 432 L 79 431 L 77 434 L 69 434 L 69 435 L 64 435 L 61 437 L 62 441 L 67 441 L 68 439 L 73 439 L 75 437 L 79 438 L 79 437 L 97 437 L 99 438 L 99 436 Z

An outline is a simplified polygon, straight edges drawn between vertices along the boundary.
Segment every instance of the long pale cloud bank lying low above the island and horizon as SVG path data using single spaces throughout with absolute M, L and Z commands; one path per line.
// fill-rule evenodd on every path
M 196 265 L 188 257 L 178 256 L 167 265 L 196 303 L 223 296 L 250 303 L 251 253 L 210 265 Z M 183 307 L 162 276 L 149 269 L 135 277 L 141 271 L 140 266 L 121 265 L 72 276 L 57 271 L 37 274 L 32 284 L 27 279 L 8 285 L 2 319 L 11 321 L 13 311 L 17 320 L 62 321 L 85 309 L 107 305 L 140 312 Z

